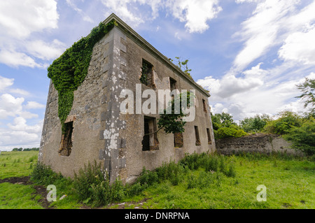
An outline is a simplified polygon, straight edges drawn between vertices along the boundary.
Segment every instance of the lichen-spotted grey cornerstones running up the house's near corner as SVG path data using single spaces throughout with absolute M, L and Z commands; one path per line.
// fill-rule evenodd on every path
M 125 35 L 114 27 L 109 38 L 109 51 L 104 57 L 109 57 L 109 63 L 103 68 L 108 72 L 108 78 L 104 85 L 107 87 L 106 95 L 102 99 L 108 99 L 107 110 L 101 113 L 101 120 L 104 121 L 105 129 L 100 131 L 99 138 L 105 141 L 104 150 L 100 150 L 99 159 L 104 159 L 104 170 L 109 173 L 110 181 L 113 182 L 118 177 L 119 169 L 125 168 L 125 158 L 119 158 L 119 149 L 125 147 L 125 139 L 119 137 L 120 129 L 125 129 L 125 121 L 120 120 L 119 94 L 125 85 L 125 73 L 120 70 L 120 66 L 126 66 L 126 60 L 120 57 L 120 52 L 126 52 L 126 46 L 120 40 L 125 39 Z

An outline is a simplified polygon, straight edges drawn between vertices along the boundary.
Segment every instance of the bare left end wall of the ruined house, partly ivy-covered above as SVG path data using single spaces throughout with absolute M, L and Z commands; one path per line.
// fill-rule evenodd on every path
M 73 106 L 67 120 L 73 121 L 71 154 L 60 152 L 62 128 L 58 117 L 58 92 L 50 81 L 45 119 L 41 136 L 38 161 L 50 166 L 55 172 L 72 177 L 90 162 L 101 161 L 99 150 L 105 141 L 100 136 L 106 123 L 103 113 L 111 106 L 107 103 L 109 69 L 113 52 L 113 32 L 106 34 L 93 48 L 90 66 L 83 83 L 73 92 Z M 102 132 L 103 134 L 103 132 Z M 103 164 L 102 164 L 103 165 Z

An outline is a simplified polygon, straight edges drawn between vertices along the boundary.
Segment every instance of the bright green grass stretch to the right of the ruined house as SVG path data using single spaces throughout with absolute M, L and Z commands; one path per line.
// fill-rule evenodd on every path
M 141 196 L 129 199 L 148 199 L 142 208 L 188 209 L 284 209 L 315 208 L 315 164 L 307 159 L 285 157 L 226 157 L 233 162 L 236 177 L 221 176 L 221 183 L 210 182 L 207 187 L 188 187 L 188 176 L 195 179 L 203 174 L 203 168 L 189 171 L 179 185 L 168 180 L 155 183 Z M 203 175 L 202 175 L 203 176 Z M 257 201 L 258 185 L 267 187 L 267 201 Z M 127 206 L 130 208 L 132 206 Z

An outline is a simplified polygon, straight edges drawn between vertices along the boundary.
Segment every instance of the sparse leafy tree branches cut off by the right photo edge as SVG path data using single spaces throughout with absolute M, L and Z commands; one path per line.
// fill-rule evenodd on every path
M 297 88 L 302 92 L 297 98 L 306 100 L 304 108 L 310 105 L 310 112 L 315 113 L 315 79 L 305 78 L 305 81 L 297 85 Z

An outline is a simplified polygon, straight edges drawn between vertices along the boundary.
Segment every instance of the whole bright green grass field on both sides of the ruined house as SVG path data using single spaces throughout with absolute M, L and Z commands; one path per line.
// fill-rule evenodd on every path
M 45 201 L 47 185 L 22 182 L 22 177 L 33 171 L 37 155 L 38 151 L 1 152 L 0 208 L 90 208 L 78 201 L 69 179 L 55 183 L 57 201 L 51 203 Z M 177 185 L 169 180 L 154 183 L 137 196 L 100 208 L 315 208 L 314 161 L 247 154 L 225 157 L 225 163 L 234 164 L 235 177 L 216 175 L 204 168 L 187 170 Z M 257 201 L 258 185 L 265 185 L 267 201 Z M 59 201 L 64 194 L 66 198 Z

